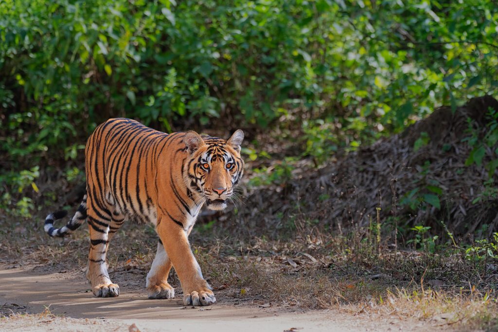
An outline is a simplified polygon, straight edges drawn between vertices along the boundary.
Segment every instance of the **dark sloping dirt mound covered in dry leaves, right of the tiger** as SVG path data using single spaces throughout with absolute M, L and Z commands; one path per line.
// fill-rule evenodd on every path
M 485 165 L 496 147 L 486 148 L 481 166 L 465 162 L 473 150 L 466 138 L 484 137 L 490 109 L 498 111 L 491 96 L 454 112 L 440 107 L 403 133 L 304 172 L 283 189 L 250 195 L 235 219 L 248 232 L 271 236 L 292 220 L 298 227 L 367 226 L 380 208 L 382 223 L 404 230 L 424 225 L 444 235 L 444 223 L 458 236 L 489 236 L 498 229 L 498 202 L 484 185 Z

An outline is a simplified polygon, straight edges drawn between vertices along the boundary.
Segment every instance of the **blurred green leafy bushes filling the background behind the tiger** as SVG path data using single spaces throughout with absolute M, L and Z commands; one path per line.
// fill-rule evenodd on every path
M 121 116 L 242 128 L 252 171 L 279 165 L 249 185 L 284 185 L 302 161 L 495 94 L 497 51 L 494 0 L 3 0 L 0 209 L 54 205 L 42 185 L 83 182 L 86 138 Z

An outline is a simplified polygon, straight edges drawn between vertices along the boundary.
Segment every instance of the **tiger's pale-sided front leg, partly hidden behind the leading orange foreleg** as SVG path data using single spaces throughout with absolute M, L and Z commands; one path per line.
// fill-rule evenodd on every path
M 147 273 L 147 296 L 149 299 L 171 299 L 175 297 L 175 289 L 168 283 L 169 271 L 173 264 L 161 241 L 157 243 L 157 251 L 149 273 Z

